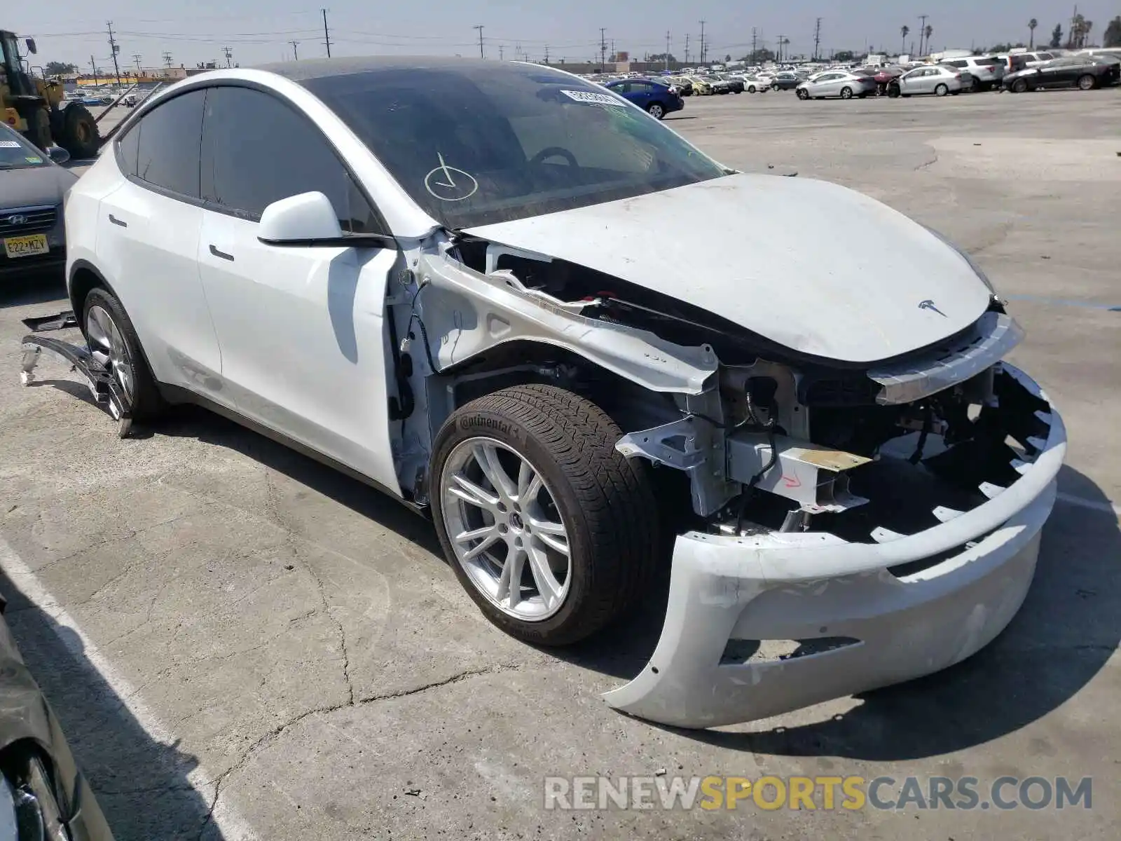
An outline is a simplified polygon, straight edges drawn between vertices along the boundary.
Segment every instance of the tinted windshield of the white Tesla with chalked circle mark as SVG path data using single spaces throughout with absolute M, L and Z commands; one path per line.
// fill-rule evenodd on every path
M 304 80 L 426 212 L 461 229 L 724 170 L 618 94 L 548 68 L 389 66 Z

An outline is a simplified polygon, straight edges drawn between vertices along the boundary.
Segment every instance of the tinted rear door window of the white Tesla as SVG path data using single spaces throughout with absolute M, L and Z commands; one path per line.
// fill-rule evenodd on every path
M 137 176 L 158 187 L 198 197 L 198 145 L 205 91 L 192 91 L 157 105 L 130 131 L 140 132 Z

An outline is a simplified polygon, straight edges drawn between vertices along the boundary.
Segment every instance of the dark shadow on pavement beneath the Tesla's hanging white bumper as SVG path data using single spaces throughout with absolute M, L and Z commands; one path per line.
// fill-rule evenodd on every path
M 1097 509 L 1056 502 L 1023 607 L 974 656 L 859 695 L 849 712 L 814 723 L 752 731 L 661 729 L 754 754 L 889 761 L 981 745 L 1058 709 L 1093 680 L 1121 641 L 1121 530 L 1111 500 L 1069 466 L 1059 486 Z M 557 654 L 586 668 L 633 677 L 657 645 L 659 604 L 665 604 L 664 590 L 650 610 Z

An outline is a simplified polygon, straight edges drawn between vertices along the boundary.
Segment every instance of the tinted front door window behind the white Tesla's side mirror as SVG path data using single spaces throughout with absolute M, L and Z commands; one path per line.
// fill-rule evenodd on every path
M 211 87 L 202 148 L 202 195 L 258 220 L 272 202 L 319 192 L 343 231 L 382 233 L 369 203 L 311 120 L 248 87 Z

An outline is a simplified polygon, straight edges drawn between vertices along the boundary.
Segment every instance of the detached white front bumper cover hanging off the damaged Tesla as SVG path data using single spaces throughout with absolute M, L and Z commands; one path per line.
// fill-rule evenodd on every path
M 1003 370 L 1027 405 L 1050 408 L 1026 375 Z M 1022 604 L 1055 502 L 1066 431 L 1053 408 L 1032 414 L 1046 434 L 1032 438 L 1030 461 L 1012 463 L 1020 478 L 983 487 L 988 502 L 943 512 L 945 521 L 925 532 L 881 533 L 871 544 L 812 532 L 680 535 L 657 650 L 604 699 L 664 724 L 720 727 L 908 681 L 974 654 Z

